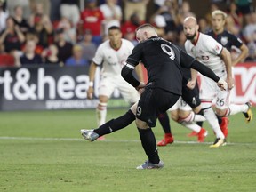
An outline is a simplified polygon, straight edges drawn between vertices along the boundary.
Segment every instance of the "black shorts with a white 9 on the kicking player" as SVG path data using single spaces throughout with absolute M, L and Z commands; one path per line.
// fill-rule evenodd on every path
M 140 100 L 136 110 L 136 117 L 141 121 L 147 122 L 148 126 L 156 126 L 158 114 L 164 113 L 171 108 L 180 95 L 166 92 L 158 88 L 145 88 L 140 95 Z

